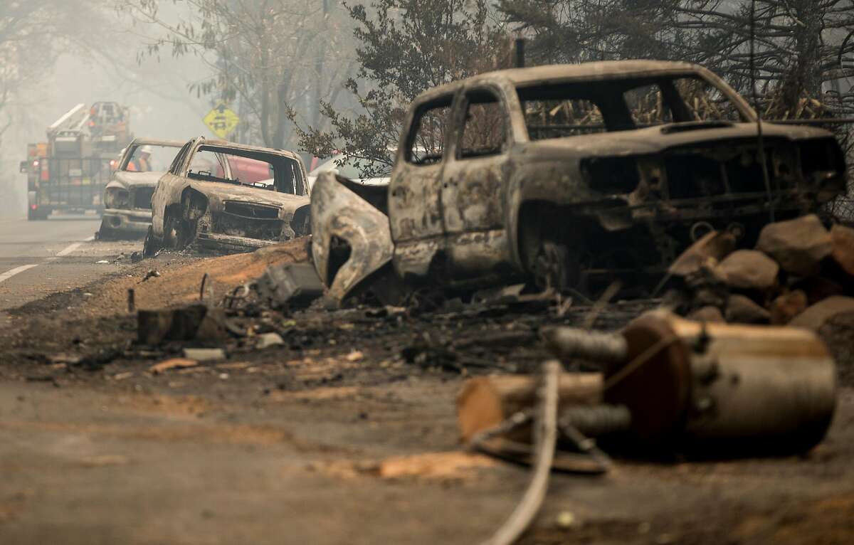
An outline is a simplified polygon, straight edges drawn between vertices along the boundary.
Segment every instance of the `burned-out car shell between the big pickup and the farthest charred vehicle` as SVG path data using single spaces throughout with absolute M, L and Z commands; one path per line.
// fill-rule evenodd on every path
M 190 243 L 249 251 L 310 228 L 299 156 L 204 137 L 184 144 L 157 183 L 151 204 L 146 255 Z

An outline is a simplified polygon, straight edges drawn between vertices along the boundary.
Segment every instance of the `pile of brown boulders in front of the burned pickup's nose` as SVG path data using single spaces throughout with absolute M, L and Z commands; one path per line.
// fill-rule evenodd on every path
M 690 319 L 818 331 L 854 363 L 854 228 L 828 230 L 810 214 L 763 227 L 754 249 L 735 247 L 731 233 L 712 231 L 687 249 L 670 266 L 669 306 Z

